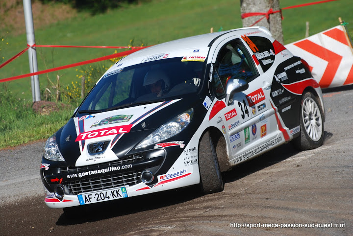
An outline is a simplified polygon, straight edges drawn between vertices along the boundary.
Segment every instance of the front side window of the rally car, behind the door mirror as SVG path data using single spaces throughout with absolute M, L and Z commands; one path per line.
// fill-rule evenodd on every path
M 244 79 L 248 83 L 258 74 L 252 57 L 240 40 L 227 43 L 218 53 L 213 71 L 212 89 L 219 98 L 225 94 L 229 79 Z

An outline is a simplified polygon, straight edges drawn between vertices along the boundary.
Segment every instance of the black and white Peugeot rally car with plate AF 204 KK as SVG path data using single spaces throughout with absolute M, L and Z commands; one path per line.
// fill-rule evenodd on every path
M 264 27 L 134 52 L 106 71 L 45 145 L 45 203 L 64 208 L 199 185 L 283 143 L 320 146 L 321 89 Z

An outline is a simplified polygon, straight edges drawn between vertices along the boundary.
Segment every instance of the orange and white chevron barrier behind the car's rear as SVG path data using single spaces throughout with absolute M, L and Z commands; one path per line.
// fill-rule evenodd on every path
M 321 88 L 353 84 L 353 48 L 343 25 L 285 47 L 309 64 Z

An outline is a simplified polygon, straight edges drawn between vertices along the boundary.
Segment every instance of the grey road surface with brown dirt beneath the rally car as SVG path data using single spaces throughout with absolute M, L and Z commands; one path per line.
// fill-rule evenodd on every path
M 0 150 L 0 235 L 353 235 L 348 88 L 324 94 L 323 146 L 284 144 L 224 173 L 215 194 L 193 186 L 94 204 L 68 219 L 44 204 L 44 142 Z

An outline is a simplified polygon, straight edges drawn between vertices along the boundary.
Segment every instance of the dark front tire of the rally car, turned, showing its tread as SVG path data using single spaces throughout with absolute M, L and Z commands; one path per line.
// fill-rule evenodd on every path
M 216 150 L 209 132 L 203 134 L 199 144 L 200 186 L 203 193 L 220 192 L 224 189 Z

